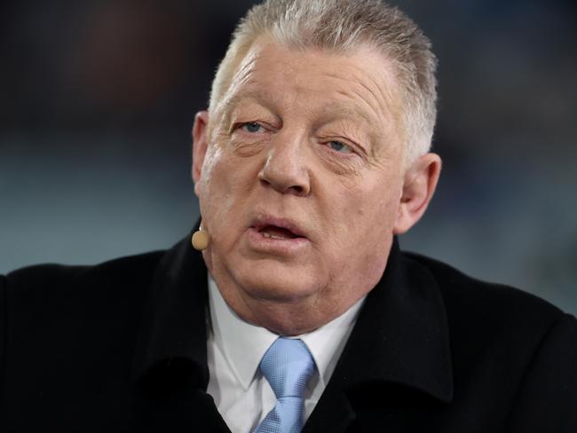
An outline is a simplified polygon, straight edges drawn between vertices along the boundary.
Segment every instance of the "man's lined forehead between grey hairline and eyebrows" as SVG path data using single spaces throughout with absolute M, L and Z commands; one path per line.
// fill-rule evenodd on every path
M 398 87 L 392 62 L 368 44 L 346 52 L 296 50 L 261 37 L 235 67 L 219 105 L 229 111 L 252 101 L 391 125 L 400 110 Z

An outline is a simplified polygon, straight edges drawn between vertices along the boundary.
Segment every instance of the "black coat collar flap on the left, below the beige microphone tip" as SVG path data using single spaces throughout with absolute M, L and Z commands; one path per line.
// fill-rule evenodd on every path
M 206 390 L 207 306 L 208 272 L 187 237 L 162 256 L 154 272 L 134 356 L 137 382 L 185 370 L 195 386 Z

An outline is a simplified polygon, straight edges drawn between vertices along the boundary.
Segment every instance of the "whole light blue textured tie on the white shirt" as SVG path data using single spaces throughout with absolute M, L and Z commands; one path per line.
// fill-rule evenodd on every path
M 314 371 L 314 360 L 306 344 L 302 340 L 279 337 L 266 350 L 260 371 L 271 384 L 277 401 L 254 433 L 300 433 L 303 391 Z

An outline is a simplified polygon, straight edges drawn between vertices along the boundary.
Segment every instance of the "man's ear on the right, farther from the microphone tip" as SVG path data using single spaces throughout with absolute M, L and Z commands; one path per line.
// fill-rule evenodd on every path
M 440 171 L 441 159 L 438 154 L 425 154 L 407 169 L 399 213 L 393 226 L 394 234 L 407 232 L 421 219 L 435 193 Z

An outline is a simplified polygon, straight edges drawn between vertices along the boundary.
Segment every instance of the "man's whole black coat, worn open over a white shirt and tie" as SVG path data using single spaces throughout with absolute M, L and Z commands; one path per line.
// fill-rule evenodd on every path
M 225 432 L 187 240 L 0 277 L 0 431 Z M 393 245 L 304 432 L 577 432 L 577 324 Z

